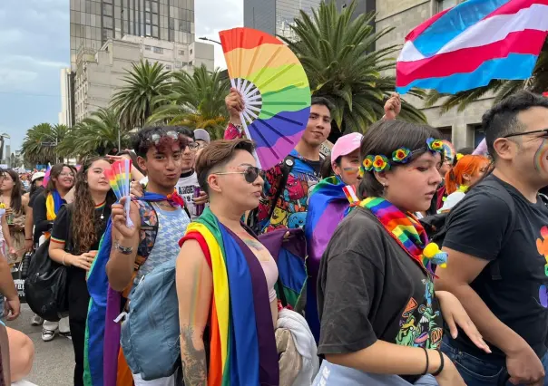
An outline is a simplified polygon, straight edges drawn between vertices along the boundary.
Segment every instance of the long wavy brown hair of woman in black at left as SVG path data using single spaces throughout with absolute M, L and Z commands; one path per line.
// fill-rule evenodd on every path
M 73 253 L 83 254 L 89 252 L 90 248 L 97 242 L 101 235 L 98 235 L 97 227 L 100 224 L 95 224 L 94 212 L 95 203 L 93 202 L 92 194 L 87 183 L 87 172 L 92 167 L 93 162 L 98 160 L 109 161 L 103 157 L 94 157 L 85 159 L 82 168 L 76 174 L 76 182 L 74 184 L 74 202 L 73 202 Z M 113 205 L 116 201 L 113 190 L 109 190 L 106 195 L 107 206 Z

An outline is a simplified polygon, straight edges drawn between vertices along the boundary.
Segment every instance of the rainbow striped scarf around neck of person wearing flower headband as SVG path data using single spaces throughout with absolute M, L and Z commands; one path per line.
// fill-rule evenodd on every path
M 359 203 L 359 206 L 367 207 L 397 244 L 428 272 L 426 266 L 429 265 L 429 261 L 423 256 L 428 237 L 425 228 L 413 214 L 405 214 L 385 198 L 379 197 L 366 198 Z

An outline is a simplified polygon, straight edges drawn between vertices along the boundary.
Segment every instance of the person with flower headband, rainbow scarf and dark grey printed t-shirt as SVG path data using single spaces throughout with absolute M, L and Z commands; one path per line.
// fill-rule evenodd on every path
M 412 213 L 441 181 L 439 133 L 380 121 L 361 142 L 362 199 L 336 230 L 318 275 L 325 358 L 315 385 L 465 385 L 439 351 L 444 322 L 488 351 L 454 295 L 437 292 L 425 256 L 444 257 Z M 389 359 L 389 360 L 387 360 Z

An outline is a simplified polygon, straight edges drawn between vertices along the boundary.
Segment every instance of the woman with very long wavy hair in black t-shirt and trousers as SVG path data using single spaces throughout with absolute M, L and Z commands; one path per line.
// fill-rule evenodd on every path
M 93 264 L 116 199 L 104 175 L 104 170 L 110 167 L 111 164 L 103 158 L 89 159 L 83 163 L 76 174 L 74 201 L 59 209 L 49 247 L 49 256 L 57 263 L 68 266 L 75 386 L 83 385 L 83 346 L 90 302 L 85 276 Z

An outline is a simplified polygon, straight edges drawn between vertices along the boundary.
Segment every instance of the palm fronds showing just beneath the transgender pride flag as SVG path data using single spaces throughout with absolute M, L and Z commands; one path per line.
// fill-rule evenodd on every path
M 426 94 L 426 107 L 432 107 L 442 98 L 441 113 L 445 113 L 456 107 L 457 111 L 465 109 L 474 101 L 486 95 L 494 95 L 494 103 L 504 100 L 507 96 L 520 90 L 543 93 L 548 90 L 548 40 L 544 43 L 543 51 L 534 66 L 533 74 L 529 79 L 520 81 L 503 81 L 494 79 L 484 87 L 478 87 L 456 94 L 444 94 L 430 90 Z

